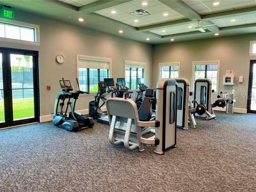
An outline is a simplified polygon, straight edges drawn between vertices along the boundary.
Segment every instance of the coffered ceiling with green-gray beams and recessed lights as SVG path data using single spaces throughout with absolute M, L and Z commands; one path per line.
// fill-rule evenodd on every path
M 150 44 L 256 33 L 256 0 L 2 0 L 0 3 Z M 78 18 L 84 22 L 78 22 Z

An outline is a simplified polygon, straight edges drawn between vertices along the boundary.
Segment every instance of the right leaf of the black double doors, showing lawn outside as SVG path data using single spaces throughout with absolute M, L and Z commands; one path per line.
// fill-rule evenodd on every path
M 37 54 L 7 50 L 10 125 L 38 121 Z

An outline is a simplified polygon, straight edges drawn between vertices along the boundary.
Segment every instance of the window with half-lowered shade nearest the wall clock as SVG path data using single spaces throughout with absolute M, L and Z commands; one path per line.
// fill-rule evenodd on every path
M 88 92 L 98 92 L 98 81 L 110 77 L 111 59 L 77 55 L 78 81 L 80 89 Z

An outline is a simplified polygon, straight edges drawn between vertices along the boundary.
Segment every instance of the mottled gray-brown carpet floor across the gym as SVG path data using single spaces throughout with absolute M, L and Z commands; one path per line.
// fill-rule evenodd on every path
M 0 191 L 255 192 L 256 115 L 216 116 L 178 129 L 165 155 L 112 146 L 100 123 L 76 133 L 52 123 L 0 130 Z

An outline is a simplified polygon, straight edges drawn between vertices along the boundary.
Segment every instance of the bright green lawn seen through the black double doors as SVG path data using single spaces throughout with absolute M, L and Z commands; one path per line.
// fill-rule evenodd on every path
M 34 98 L 13 99 L 13 119 L 34 117 Z M 0 121 L 4 121 L 4 100 L 0 100 Z

